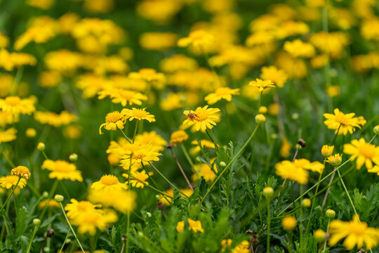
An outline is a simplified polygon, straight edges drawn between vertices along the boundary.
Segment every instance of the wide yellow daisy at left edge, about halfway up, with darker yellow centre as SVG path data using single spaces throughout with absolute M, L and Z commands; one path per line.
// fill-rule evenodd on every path
M 18 96 L 7 96 L 5 99 L 0 99 L 0 109 L 4 112 L 12 112 L 13 115 L 30 115 L 36 110 L 34 108 L 34 99 L 21 99 Z

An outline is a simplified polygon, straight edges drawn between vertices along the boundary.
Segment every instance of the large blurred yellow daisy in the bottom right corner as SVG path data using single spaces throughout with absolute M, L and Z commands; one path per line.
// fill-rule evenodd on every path
M 370 228 L 366 222 L 359 221 L 359 216 L 354 214 L 352 221 L 331 221 L 329 225 L 329 245 L 334 246 L 343 238 L 343 246 L 347 249 L 353 249 L 356 245 L 358 249 L 366 245 L 367 249 L 371 249 L 378 245 L 379 229 Z

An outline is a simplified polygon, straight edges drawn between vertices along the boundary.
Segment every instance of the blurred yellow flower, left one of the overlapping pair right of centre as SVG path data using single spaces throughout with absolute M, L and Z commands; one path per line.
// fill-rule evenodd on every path
M 291 161 L 282 161 L 275 164 L 276 174 L 282 179 L 294 180 L 300 184 L 308 183 L 308 171 L 296 167 Z

